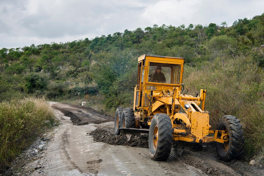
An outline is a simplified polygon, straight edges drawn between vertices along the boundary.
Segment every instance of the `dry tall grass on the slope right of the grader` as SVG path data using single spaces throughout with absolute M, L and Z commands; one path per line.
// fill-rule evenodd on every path
M 264 72 L 248 57 L 216 58 L 196 66 L 185 66 L 183 83 L 188 94 L 206 89 L 205 110 L 215 129 L 219 118 L 236 116 L 242 123 L 244 152 L 249 159 L 263 153 L 264 141 Z

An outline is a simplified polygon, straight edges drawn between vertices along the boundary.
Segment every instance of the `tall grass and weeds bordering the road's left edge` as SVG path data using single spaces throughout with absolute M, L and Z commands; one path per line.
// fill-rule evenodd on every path
M 0 103 L 0 172 L 54 122 L 55 116 L 44 98 Z

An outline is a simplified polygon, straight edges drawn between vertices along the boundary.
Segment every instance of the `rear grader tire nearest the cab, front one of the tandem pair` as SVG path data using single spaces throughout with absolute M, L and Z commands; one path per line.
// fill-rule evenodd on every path
M 134 110 L 131 108 L 125 108 L 122 112 L 121 121 L 120 121 L 121 128 L 135 128 L 135 114 Z

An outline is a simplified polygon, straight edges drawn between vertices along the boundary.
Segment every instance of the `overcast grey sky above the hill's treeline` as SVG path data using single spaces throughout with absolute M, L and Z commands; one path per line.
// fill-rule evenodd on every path
M 263 0 L 0 0 L 0 49 L 91 40 L 154 24 L 231 26 L 263 9 Z

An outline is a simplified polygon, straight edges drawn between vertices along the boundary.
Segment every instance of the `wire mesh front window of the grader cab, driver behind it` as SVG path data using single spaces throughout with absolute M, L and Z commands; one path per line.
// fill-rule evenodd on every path
M 179 84 L 181 65 L 167 63 L 149 63 L 148 82 Z

